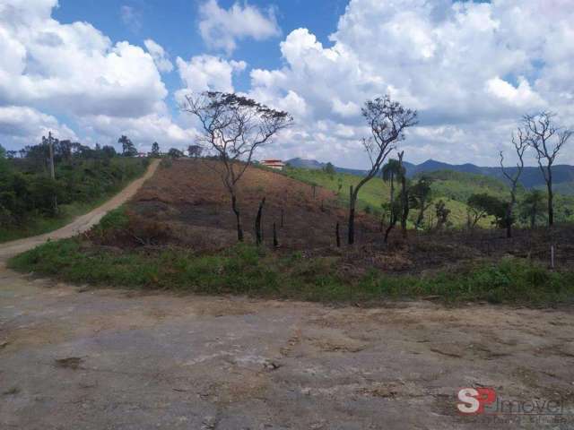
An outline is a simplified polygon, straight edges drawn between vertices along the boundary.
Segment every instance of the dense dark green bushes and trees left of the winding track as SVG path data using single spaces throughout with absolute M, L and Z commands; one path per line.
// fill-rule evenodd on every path
M 19 155 L 19 157 L 16 157 Z M 145 159 L 118 157 L 112 147 L 54 144 L 55 179 L 47 142 L 0 151 L 0 242 L 65 225 L 140 176 Z

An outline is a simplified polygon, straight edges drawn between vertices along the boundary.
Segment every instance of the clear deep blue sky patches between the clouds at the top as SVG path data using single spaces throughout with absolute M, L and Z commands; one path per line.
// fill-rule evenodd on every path
M 221 0 L 220 6 L 229 9 L 232 0 Z M 344 13 L 348 0 L 283 0 L 268 2 L 250 1 L 261 10 L 274 8 L 283 36 L 300 27 L 313 31 L 317 39 L 329 46 L 329 35 L 335 31 L 339 17 Z M 205 52 L 204 40 L 197 30 L 198 0 L 60 0 L 53 16 L 60 22 L 91 22 L 114 41 L 128 40 L 143 45 L 143 40 L 153 39 L 168 51 L 170 56 L 188 59 Z M 287 7 L 285 7 L 288 5 Z M 134 22 L 127 24 L 122 18 L 122 7 L 132 8 Z M 283 64 L 279 42 L 282 37 L 262 41 L 247 41 L 228 58 L 243 60 L 250 68 L 278 68 Z M 180 85 L 178 73 L 164 77 L 170 91 Z M 248 73 L 240 73 L 235 81 L 236 90 L 249 89 Z M 175 108 L 175 103 L 173 104 Z

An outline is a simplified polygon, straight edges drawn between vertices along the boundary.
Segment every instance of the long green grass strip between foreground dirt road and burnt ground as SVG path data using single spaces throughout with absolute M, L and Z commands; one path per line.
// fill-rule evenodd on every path
M 337 270 L 336 257 L 279 256 L 252 245 L 237 245 L 216 255 L 181 249 L 113 254 L 85 245 L 80 239 L 48 242 L 14 257 L 9 266 L 74 283 L 327 302 L 433 296 L 451 304 L 486 300 L 555 305 L 570 303 L 574 297 L 574 272 L 548 271 L 516 258 L 421 276 L 373 270 L 348 279 Z

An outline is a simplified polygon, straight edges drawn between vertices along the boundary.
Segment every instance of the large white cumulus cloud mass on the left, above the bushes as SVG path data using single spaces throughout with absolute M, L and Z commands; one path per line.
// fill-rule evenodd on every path
M 186 141 L 192 132 L 173 123 L 164 101 L 168 90 L 160 72 L 173 64 L 163 48 L 152 39 L 145 40 L 146 50 L 113 43 L 89 22 L 58 22 L 56 6 L 57 0 L 0 0 L 4 139 L 35 143 L 50 128 L 80 140 L 98 130 L 109 143 L 117 140 L 109 131 L 135 133 L 140 125 L 137 135 L 145 142 Z M 85 133 L 78 138 L 60 117 Z

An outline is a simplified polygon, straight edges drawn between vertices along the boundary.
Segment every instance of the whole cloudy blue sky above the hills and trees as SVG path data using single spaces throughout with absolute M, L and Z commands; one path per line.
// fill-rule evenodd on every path
M 366 168 L 361 106 L 388 94 L 419 113 L 405 159 L 495 166 L 525 114 L 574 127 L 573 78 L 574 0 L 0 0 L 7 149 L 48 131 L 185 149 L 181 101 L 221 90 L 293 116 L 257 158 Z

